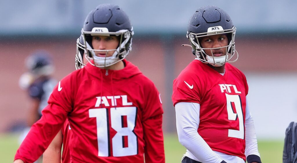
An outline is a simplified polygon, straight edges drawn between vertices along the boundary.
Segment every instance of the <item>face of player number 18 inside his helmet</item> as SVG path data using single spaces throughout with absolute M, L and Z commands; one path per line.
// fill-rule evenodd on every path
M 119 39 L 117 36 L 93 36 L 92 46 L 96 50 L 112 50 L 117 49 L 119 46 Z M 97 52 L 95 51 L 96 56 L 98 57 L 111 57 L 115 51 L 107 52 Z

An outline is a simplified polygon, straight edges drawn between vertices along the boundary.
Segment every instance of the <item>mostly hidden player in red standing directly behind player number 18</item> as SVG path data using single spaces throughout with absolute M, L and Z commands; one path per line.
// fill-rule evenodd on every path
M 75 69 L 83 68 L 88 61 L 85 58 L 83 35 L 76 40 Z M 62 129 L 43 153 L 43 163 L 70 162 L 69 139 L 72 136 L 71 127 L 66 119 Z M 63 147 L 63 150 L 61 148 Z M 62 151 L 62 154 L 61 154 Z

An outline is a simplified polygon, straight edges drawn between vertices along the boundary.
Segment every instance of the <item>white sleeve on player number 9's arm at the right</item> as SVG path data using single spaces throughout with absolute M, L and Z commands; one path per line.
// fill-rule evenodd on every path
M 249 155 L 257 155 L 260 157 L 260 153 L 258 151 L 257 137 L 255 131 L 254 120 L 251 112 L 249 111 L 249 105 L 247 104 L 246 99 L 246 109 L 245 109 L 245 156 Z

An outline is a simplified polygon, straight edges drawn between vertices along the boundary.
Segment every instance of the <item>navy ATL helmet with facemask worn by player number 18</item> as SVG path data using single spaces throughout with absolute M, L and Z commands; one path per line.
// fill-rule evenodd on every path
M 94 66 L 106 67 L 123 60 L 132 49 L 133 27 L 127 14 L 117 5 L 100 4 L 86 17 L 83 34 L 87 56 L 86 59 Z M 119 47 L 117 49 L 95 50 L 92 47 L 92 36 L 118 36 Z M 113 51 L 111 57 L 98 57 L 95 51 L 107 54 Z M 94 60 L 92 63 L 90 60 Z

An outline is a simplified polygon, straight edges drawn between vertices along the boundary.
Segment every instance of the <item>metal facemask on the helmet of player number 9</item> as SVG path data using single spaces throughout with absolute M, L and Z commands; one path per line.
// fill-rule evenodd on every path
M 219 26 L 220 29 L 222 29 L 221 26 Z M 213 30 L 214 27 L 210 27 L 212 30 L 208 30 L 206 33 L 189 33 L 187 32 L 187 38 L 190 40 L 193 48 L 193 53 L 196 55 L 196 57 L 202 61 L 203 63 L 209 63 L 215 67 L 219 67 L 224 65 L 226 62 L 235 62 L 238 59 L 238 52 L 235 50 L 235 32 L 236 28 L 233 27 L 231 29 L 226 30 Z M 217 34 L 226 34 L 228 38 L 228 45 L 224 47 L 217 47 L 217 48 L 203 48 L 200 44 L 200 39 L 202 37 L 217 35 Z M 226 55 L 220 56 L 220 57 L 214 57 L 214 54 L 212 52 L 212 49 L 226 49 Z M 211 54 L 207 55 L 205 50 L 211 49 Z M 234 59 L 233 56 L 237 55 L 237 57 Z M 231 60 L 233 58 L 233 60 Z

